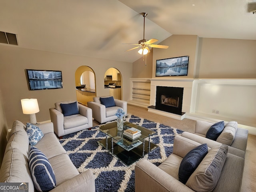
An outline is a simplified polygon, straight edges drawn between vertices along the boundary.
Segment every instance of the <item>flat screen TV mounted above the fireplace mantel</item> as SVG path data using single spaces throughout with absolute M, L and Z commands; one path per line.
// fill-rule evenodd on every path
M 187 76 L 188 56 L 156 60 L 156 77 Z

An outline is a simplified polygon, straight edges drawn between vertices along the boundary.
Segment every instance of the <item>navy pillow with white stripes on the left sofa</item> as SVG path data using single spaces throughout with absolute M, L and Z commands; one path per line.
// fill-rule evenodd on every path
M 28 158 L 36 190 L 49 191 L 56 187 L 56 178 L 46 156 L 38 148 L 31 146 Z

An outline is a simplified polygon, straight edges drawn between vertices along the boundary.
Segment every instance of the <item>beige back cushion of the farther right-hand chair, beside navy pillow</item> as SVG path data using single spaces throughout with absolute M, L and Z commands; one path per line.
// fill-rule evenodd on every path
M 230 146 L 234 141 L 236 130 L 237 130 L 237 122 L 234 122 L 234 123 L 228 122 L 228 124 L 226 124 L 225 128 L 223 129 L 220 136 L 218 136 L 216 141 Z

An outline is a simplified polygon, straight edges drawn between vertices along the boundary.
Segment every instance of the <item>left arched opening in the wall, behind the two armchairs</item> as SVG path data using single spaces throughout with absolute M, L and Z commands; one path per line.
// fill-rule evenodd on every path
M 87 106 L 87 102 L 96 97 L 95 73 L 88 66 L 80 66 L 75 73 L 76 100 Z

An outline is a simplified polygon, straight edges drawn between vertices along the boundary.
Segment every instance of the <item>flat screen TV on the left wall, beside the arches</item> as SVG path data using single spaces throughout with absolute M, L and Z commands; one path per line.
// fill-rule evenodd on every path
M 27 69 L 30 90 L 61 89 L 62 72 L 51 70 Z

